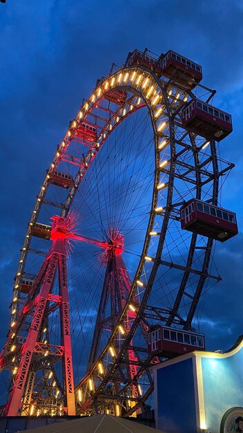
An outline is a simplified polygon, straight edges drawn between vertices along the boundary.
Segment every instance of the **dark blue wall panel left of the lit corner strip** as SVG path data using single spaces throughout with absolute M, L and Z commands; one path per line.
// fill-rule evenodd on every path
M 157 370 L 157 425 L 166 433 L 196 433 L 193 360 Z

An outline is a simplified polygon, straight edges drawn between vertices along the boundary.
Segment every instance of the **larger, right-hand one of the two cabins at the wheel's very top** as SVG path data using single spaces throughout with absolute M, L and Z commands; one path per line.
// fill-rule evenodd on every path
M 175 81 L 187 89 L 193 89 L 202 80 L 202 66 L 169 50 L 160 61 L 162 74 L 170 78 L 176 72 Z

